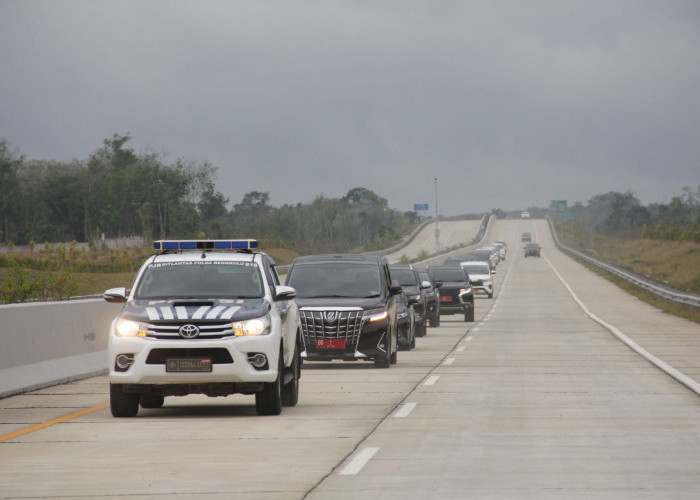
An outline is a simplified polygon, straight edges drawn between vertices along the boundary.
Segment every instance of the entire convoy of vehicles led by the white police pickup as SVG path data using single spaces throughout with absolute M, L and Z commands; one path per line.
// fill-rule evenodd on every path
M 539 256 L 530 243 L 525 256 Z M 441 315 L 474 321 L 474 296 L 494 295 L 499 241 L 443 265 L 389 265 L 376 255 L 295 259 L 282 285 L 255 240 L 160 240 L 131 289 L 105 291 L 124 303 L 109 335 L 115 417 L 160 408 L 169 396 L 255 396 L 260 415 L 299 397 L 306 361 L 372 361 L 389 368 Z

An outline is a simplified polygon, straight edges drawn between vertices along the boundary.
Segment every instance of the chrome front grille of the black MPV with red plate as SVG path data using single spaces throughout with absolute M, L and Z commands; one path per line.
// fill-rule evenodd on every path
M 343 339 L 347 347 L 354 347 L 362 331 L 362 313 L 362 310 L 300 310 L 306 345 L 315 346 L 321 339 Z

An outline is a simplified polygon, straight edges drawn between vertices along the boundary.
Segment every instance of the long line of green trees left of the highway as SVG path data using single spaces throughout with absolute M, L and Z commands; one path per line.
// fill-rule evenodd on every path
M 391 246 L 419 222 L 415 212 L 392 210 L 362 187 L 281 207 L 270 205 L 269 193 L 252 191 L 228 209 L 216 167 L 137 154 L 130 139 L 115 134 L 87 160 L 69 162 L 29 160 L 0 140 L 0 242 L 245 237 L 333 252 Z

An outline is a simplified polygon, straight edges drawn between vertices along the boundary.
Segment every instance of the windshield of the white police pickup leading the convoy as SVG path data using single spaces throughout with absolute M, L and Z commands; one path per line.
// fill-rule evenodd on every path
M 137 299 L 257 298 L 262 277 L 252 262 L 152 262 L 134 294 Z

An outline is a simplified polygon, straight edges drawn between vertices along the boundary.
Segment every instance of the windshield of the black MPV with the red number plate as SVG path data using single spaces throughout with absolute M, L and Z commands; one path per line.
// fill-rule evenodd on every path
M 287 284 L 300 298 L 354 297 L 380 295 L 379 268 L 362 263 L 313 263 L 294 266 Z

